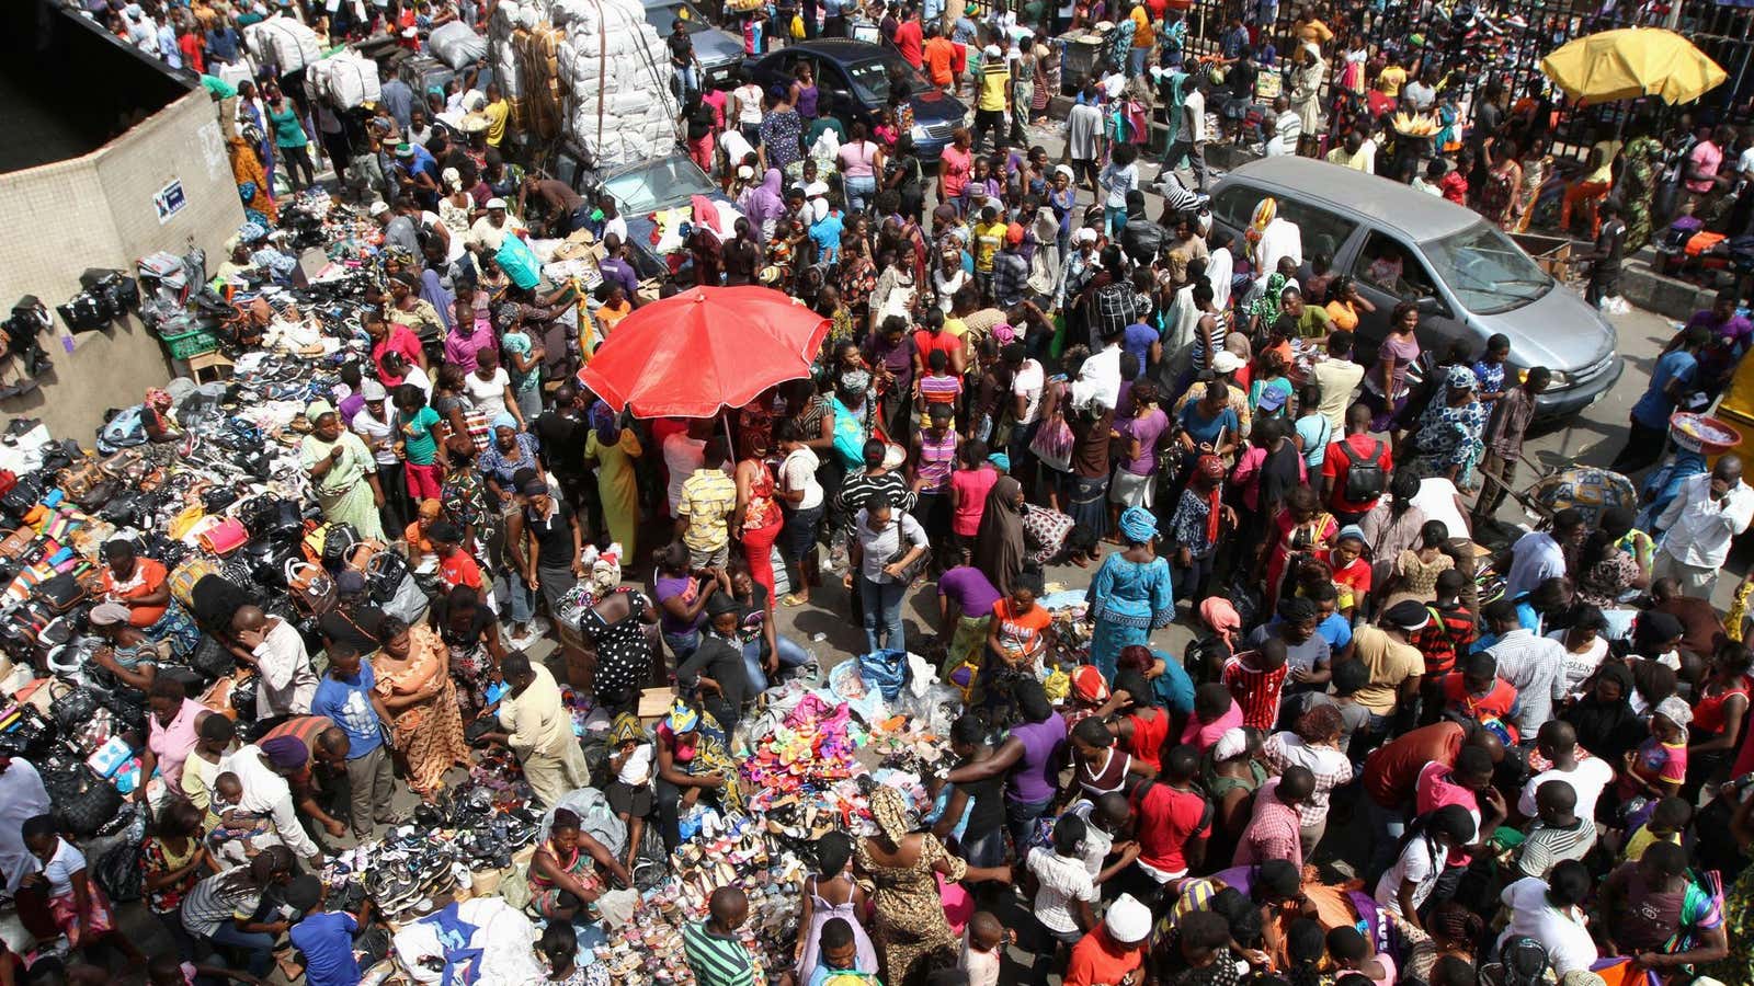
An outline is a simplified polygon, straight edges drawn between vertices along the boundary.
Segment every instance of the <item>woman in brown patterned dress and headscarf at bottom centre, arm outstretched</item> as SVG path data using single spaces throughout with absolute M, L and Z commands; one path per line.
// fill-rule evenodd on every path
M 1010 882 L 1010 867 L 970 867 L 951 856 L 930 832 L 914 832 L 914 812 L 896 788 L 870 797 L 877 835 L 859 839 L 852 863 L 875 884 L 872 939 L 884 982 L 924 986 L 928 974 L 956 965 L 958 939 L 938 900 L 938 875 L 949 881 Z

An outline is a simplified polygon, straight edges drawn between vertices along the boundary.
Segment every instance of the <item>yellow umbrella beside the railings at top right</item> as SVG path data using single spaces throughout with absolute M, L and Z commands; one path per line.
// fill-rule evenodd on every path
M 1661 28 L 1619 28 L 1580 37 L 1540 61 L 1565 95 L 1582 104 L 1661 96 L 1686 104 L 1729 75 L 1693 42 Z

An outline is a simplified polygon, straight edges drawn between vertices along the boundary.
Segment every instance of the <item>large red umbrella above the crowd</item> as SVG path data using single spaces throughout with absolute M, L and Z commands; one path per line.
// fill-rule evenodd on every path
M 693 288 L 633 311 L 579 379 L 640 418 L 712 418 L 810 375 L 828 319 L 772 288 Z

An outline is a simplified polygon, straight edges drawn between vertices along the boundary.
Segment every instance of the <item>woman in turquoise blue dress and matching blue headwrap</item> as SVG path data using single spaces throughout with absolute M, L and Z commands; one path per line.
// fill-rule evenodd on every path
M 1096 630 L 1091 633 L 1091 663 L 1114 681 L 1121 647 L 1145 646 L 1151 632 L 1175 619 L 1170 565 L 1158 558 L 1158 518 L 1144 507 L 1121 511 L 1121 551 L 1109 553 L 1091 579 L 1086 602 Z

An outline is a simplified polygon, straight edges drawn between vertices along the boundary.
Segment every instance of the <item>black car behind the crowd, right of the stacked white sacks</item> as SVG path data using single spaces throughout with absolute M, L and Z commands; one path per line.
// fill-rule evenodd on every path
M 789 44 L 754 61 L 756 84 L 763 89 L 789 86 L 798 61 L 809 61 L 816 70 L 819 107 L 830 107 L 844 125 L 854 119 L 866 126 L 877 121 L 877 111 L 889 105 L 889 86 L 905 84 L 914 104 L 914 149 L 921 160 L 935 161 L 951 142 L 951 132 L 968 116 L 954 96 L 944 95 L 907 63 L 905 58 L 863 40 L 805 40 Z

